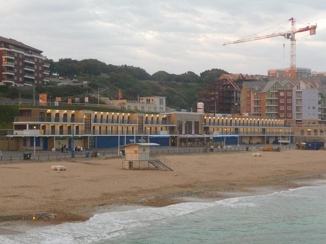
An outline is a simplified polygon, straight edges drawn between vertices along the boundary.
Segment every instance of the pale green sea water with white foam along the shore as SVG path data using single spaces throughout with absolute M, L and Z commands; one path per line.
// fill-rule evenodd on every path
M 326 243 L 326 182 L 268 195 L 95 215 L 0 243 Z

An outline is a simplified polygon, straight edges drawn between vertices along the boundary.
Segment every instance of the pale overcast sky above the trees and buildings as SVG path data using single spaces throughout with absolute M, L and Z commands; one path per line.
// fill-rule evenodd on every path
M 266 75 L 268 69 L 290 66 L 289 40 L 222 44 L 255 33 L 289 31 L 286 22 L 293 17 L 297 28 L 308 23 L 318 26 L 314 36 L 296 34 L 296 67 L 326 71 L 324 0 L 1 2 L 0 36 L 43 50 L 55 61 L 96 58 L 106 64 L 141 67 L 150 74 L 164 70 L 199 75 L 217 68 Z

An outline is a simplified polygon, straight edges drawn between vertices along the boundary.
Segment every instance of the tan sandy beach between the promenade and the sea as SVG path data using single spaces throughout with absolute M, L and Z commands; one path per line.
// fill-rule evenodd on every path
M 85 221 L 119 206 L 218 200 L 258 194 L 257 189 L 296 188 L 325 178 L 325 150 L 258 153 L 262 156 L 254 157 L 253 151 L 167 155 L 173 171 L 126 170 L 121 169 L 122 159 L 103 158 L 3 163 L 0 234 Z M 51 170 L 52 165 L 67 170 Z

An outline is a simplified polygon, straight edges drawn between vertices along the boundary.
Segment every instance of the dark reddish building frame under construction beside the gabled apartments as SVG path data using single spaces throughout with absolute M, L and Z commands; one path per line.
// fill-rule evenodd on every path
M 252 75 L 222 74 L 215 82 L 206 86 L 206 113 L 240 113 L 240 95 L 243 81 L 255 80 Z

